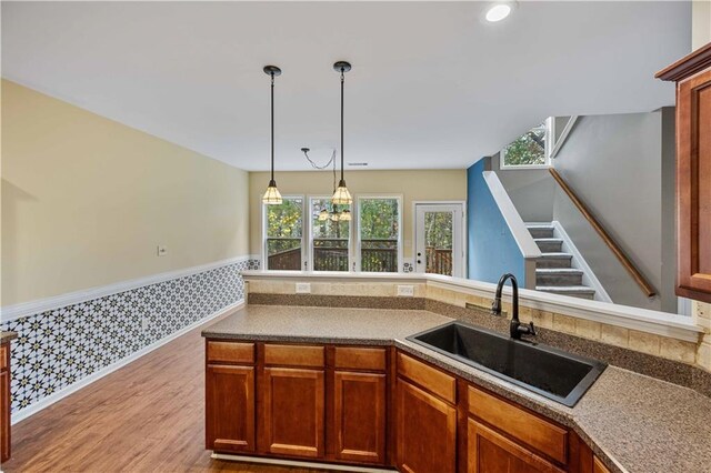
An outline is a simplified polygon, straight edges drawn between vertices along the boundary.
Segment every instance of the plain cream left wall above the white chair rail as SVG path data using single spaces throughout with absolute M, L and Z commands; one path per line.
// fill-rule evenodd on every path
M 244 171 L 3 80 L 2 305 L 247 255 L 248 189 Z

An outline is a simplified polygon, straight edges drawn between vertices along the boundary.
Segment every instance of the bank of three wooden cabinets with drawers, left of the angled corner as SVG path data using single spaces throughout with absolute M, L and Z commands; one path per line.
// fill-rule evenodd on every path
M 209 340 L 206 360 L 208 449 L 387 464 L 384 348 Z

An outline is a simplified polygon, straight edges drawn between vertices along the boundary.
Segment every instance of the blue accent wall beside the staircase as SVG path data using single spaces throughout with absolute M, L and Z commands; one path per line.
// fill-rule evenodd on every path
M 513 273 L 524 288 L 525 260 L 484 181 L 484 161 L 467 170 L 468 278 L 497 283 Z

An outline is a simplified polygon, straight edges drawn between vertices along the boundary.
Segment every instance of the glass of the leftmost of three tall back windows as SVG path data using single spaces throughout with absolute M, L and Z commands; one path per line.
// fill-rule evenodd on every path
M 264 205 L 267 212 L 267 269 L 301 270 L 303 199 L 284 198 L 280 205 Z

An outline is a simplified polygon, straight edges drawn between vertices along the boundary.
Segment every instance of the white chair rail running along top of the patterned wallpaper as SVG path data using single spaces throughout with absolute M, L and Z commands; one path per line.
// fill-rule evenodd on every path
M 152 274 L 146 278 L 138 278 L 128 281 L 120 281 L 113 284 L 89 288 L 81 291 L 68 292 L 66 294 L 54 295 L 51 298 L 38 299 L 19 304 L 6 305 L 0 308 L 0 321 L 9 322 L 22 316 L 33 315 L 40 312 L 52 311 L 67 305 L 78 304 L 80 302 L 91 301 L 93 299 L 106 298 L 107 295 L 117 294 L 119 292 L 129 291 L 131 289 L 142 288 L 144 285 L 158 284 L 159 282 L 170 281 L 171 279 L 184 278 L 191 274 L 214 270 L 229 264 L 249 261 L 252 254 L 230 258 L 227 260 L 216 261 L 213 263 L 200 264 L 198 266 L 183 268 L 177 271 L 169 271 L 159 274 Z

